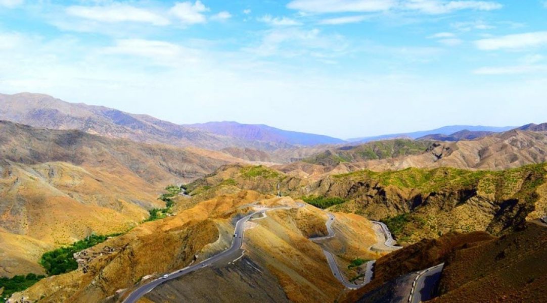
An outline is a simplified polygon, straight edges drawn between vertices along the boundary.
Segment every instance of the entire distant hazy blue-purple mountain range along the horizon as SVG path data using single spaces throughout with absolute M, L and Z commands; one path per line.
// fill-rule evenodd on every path
M 515 127 L 445 126 L 420 132 L 386 134 L 342 140 L 331 136 L 294 132 L 264 124 L 208 122 L 179 125 L 148 115 L 137 115 L 104 106 L 68 103 L 37 93 L 0 94 L 0 120 L 50 129 L 78 129 L 108 138 L 195 146 L 210 150 L 252 148 L 273 151 L 302 146 L 360 144 L 394 138 L 457 141 L 480 138 Z M 528 124 L 522 130 L 536 130 L 542 125 Z

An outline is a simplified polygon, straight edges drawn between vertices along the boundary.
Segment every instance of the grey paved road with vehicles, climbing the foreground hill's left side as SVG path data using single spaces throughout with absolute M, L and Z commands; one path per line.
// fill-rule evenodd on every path
M 299 204 L 298 207 L 302 207 L 302 204 Z M 239 219 L 236 222 L 234 234 L 237 234 L 237 237 L 234 237 L 234 240 L 232 241 L 232 245 L 230 248 L 226 249 L 225 251 L 216 254 L 215 256 L 203 260 L 202 262 L 188 266 L 186 268 L 173 271 L 170 274 L 167 274 L 167 277 L 161 277 L 155 280 L 152 280 L 141 287 L 135 289 L 127 298 L 124 300 L 124 303 L 133 303 L 136 302 L 139 298 L 141 298 L 143 295 L 149 293 L 152 289 L 159 286 L 162 283 L 165 283 L 169 280 L 176 279 L 178 277 L 184 276 L 186 274 L 189 274 L 190 272 L 205 268 L 209 265 L 213 265 L 216 263 L 226 263 L 226 262 L 232 262 L 233 260 L 240 258 L 242 255 L 241 252 L 241 245 L 243 244 L 243 234 L 245 233 L 245 223 L 251 219 L 252 216 L 256 215 L 257 213 L 264 213 L 266 211 L 270 210 L 280 210 L 280 209 L 292 209 L 294 207 L 291 206 L 281 206 L 281 207 L 272 207 L 272 208 L 265 208 L 260 211 L 255 211 L 251 213 L 251 215 L 247 215 L 241 219 Z

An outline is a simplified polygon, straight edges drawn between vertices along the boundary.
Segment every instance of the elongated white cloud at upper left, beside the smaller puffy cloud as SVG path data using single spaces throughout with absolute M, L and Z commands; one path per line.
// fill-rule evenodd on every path
M 144 22 L 153 25 L 168 25 L 165 17 L 147 9 L 132 7 L 126 4 L 84 7 L 74 5 L 66 9 L 68 15 L 101 22 Z

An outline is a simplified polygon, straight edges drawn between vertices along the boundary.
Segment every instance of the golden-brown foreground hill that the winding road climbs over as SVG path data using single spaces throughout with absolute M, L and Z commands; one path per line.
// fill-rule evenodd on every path
M 189 199 L 179 197 L 177 204 Z M 142 283 L 226 249 L 232 241 L 235 218 L 260 207 L 272 210 L 246 223 L 245 255 L 234 264 L 222 263 L 169 281 L 148 293 L 143 302 L 334 301 L 344 287 L 333 276 L 322 247 L 309 240 L 327 234 L 325 212 L 302 206 L 291 198 L 253 191 L 218 193 L 215 198 L 181 205 L 176 215 L 147 222 L 85 250 L 78 270 L 45 278 L 12 298 L 41 302 L 119 302 Z M 377 242 L 371 223 L 363 217 L 336 214 L 336 241 L 330 243 L 337 262 L 345 267 L 354 258 L 379 258 L 371 252 Z M 127 270 L 130 269 L 130 270 Z M 234 280 L 232 280 L 232 278 Z M 61 287 L 62 286 L 62 287 Z M 182 292 L 191 287 L 193 291 Z M 264 292 L 270 291 L 264 296 Z M 173 296 L 173 294 L 177 294 Z M 263 296 L 263 297 L 261 297 Z M 230 299 L 231 298 L 231 299 Z M 218 300 L 216 300 L 218 301 Z

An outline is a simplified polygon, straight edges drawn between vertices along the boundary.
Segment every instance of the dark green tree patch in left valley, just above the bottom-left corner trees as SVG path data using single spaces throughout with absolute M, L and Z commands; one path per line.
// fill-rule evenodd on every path
M 74 259 L 74 253 L 83 251 L 86 248 L 102 243 L 108 239 L 108 237 L 118 236 L 120 234 L 112 235 L 91 235 L 83 240 L 72 243 L 72 245 L 57 248 L 54 251 L 46 252 L 40 258 L 40 264 L 44 266 L 48 275 L 60 275 L 65 272 L 69 272 L 78 269 L 78 263 Z

